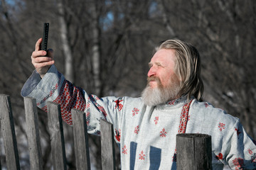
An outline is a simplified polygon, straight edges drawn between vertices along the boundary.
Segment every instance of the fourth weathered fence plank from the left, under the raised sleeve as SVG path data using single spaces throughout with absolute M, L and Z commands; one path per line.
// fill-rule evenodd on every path
M 78 111 L 77 109 L 72 109 L 71 113 L 73 119 L 76 169 L 90 169 L 90 156 L 85 113 Z

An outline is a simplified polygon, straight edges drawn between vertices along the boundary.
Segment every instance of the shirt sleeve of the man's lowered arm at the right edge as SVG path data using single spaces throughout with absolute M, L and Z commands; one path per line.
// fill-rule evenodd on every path
M 247 135 L 239 119 L 225 141 L 223 141 L 223 159 L 231 169 L 256 169 L 256 146 Z M 222 154 L 218 154 L 218 158 Z

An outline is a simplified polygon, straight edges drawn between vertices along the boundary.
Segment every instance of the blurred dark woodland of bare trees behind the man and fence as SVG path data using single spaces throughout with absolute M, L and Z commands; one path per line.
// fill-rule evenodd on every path
M 0 0 L 0 93 L 11 96 L 22 169 L 29 169 L 29 158 L 20 91 L 45 22 L 59 71 L 98 96 L 140 96 L 155 47 L 167 39 L 190 42 L 201 54 L 204 99 L 240 118 L 256 137 L 256 1 Z M 50 169 L 47 114 L 39 111 L 39 120 Z M 68 169 L 75 169 L 68 125 L 65 132 Z M 100 169 L 99 137 L 90 135 L 90 146 L 92 167 Z

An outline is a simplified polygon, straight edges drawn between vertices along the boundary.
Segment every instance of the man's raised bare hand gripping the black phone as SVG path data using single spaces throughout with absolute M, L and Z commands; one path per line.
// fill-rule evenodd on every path
M 53 50 L 41 50 L 41 42 L 42 38 L 40 38 L 36 42 L 36 49 L 34 52 L 32 52 L 31 60 L 32 64 L 36 69 L 36 72 L 40 74 L 40 77 L 43 78 L 43 76 L 48 72 L 48 69 L 52 64 L 54 64 L 53 60 Z

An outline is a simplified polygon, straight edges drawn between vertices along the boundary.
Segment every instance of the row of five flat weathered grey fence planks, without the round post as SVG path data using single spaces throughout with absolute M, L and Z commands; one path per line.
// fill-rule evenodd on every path
M 43 169 L 36 100 L 34 98 L 24 98 L 24 106 L 26 113 L 26 132 L 28 137 L 30 166 L 31 169 Z M 60 106 L 56 103 L 48 102 L 47 107 L 53 169 L 67 169 Z M 0 94 L 0 111 L 1 132 L 4 138 L 4 149 L 6 153 L 6 166 L 11 170 L 20 169 L 14 119 L 9 96 Z M 82 114 L 82 111 L 73 109 L 72 117 L 76 169 L 90 169 L 85 114 Z M 113 126 L 105 120 L 101 120 L 100 123 L 102 169 L 114 169 Z

